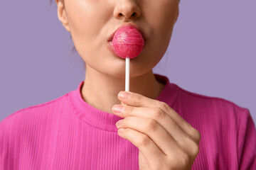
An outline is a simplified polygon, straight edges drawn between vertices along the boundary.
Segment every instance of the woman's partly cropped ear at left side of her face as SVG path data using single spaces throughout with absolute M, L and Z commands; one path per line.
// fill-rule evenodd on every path
M 68 18 L 65 11 L 65 5 L 61 0 L 55 0 L 57 4 L 58 19 L 63 24 L 63 27 L 70 32 L 70 26 L 68 25 Z

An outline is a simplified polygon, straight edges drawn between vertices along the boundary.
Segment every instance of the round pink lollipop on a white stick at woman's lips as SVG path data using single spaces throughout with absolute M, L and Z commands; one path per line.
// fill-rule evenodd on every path
M 144 38 L 136 28 L 126 26 L 117 30 L 112 40 L 114 51 L 125 58 L 125 91 L 129 91 L 129 62 L 137 57 L 144 47 Z

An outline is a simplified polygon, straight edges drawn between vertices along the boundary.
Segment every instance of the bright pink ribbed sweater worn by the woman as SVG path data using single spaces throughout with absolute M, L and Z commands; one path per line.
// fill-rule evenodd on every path
M 256 169 L 256 131 L 250 111 L 222 98 L 166 84 L 156 98 L 201 133 L 192 169 Z M 139 150 L 117 135 L 117 115 L 82 100 L 80 88 L 0 123 L 0 169 L 139 169 Z

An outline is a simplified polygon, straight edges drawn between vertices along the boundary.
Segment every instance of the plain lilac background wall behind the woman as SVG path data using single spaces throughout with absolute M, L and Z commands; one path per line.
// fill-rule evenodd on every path
M 249 108 L 256 121 L 255 6 L 255 0 L 181 1 L 169 49 L 154 72 Z M 0 21 L 0 121 L 78 88 L 83 62 L 71 53 L 55 4 L 1 1 Z

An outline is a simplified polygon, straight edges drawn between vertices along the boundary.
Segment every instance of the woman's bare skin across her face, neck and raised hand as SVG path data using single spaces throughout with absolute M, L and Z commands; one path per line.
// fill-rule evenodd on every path
M 200 134 L 166 103 L 155 100 L 164 88 L 153 67 L 161 60 L 178 18 L 178 0 L 56 0 L 58 18 L 86 63 L 82 98 L 124 118 L 118 135 L 139 148 L 139 169 L 191 169 Z M 135 13 L 135 14 L 134 14 Z M 130 63 L 131 98 L 122 99 L 125 60 L 112 55 L 107 38 L 122 23 L 135 23 L 146 46 Z M 122 104 L 118 104 L 118 103 Z M 123 106 L 117 114 L 117 106 Z

